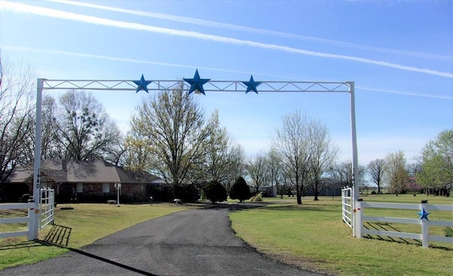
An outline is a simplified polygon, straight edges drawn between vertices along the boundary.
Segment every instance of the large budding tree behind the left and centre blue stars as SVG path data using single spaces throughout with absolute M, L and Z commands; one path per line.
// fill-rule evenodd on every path
M 152 143 L 147 168 L 173 183 L 174 196 L 179 185 L 194 180 L 210 132 L 203 110 L 182 87 L 145 98 L 132 117 L 131 131 Z

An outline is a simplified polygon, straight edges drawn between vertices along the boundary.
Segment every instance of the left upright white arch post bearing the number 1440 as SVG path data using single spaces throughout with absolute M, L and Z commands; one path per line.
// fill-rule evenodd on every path
M 36 92 L 36 125 L 35 125 L 35 163 L 33 169 L 33 201 L 35 208 L 33 212 L 33 222 L 30 231 L 33 231 L 33 239 L 38 238 L 39 217 L 40 217 L 40 171 L 41 171 L 41 105 L 42 105 L 42 85 L 43 79 L 38 79 Z

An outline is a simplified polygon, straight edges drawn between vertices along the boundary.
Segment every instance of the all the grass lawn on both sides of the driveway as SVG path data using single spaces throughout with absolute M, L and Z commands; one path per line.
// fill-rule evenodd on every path
M 428 200 L 430 204 L 453 204 L 451 197 L 423 195 L 362 195 L 362 198 L 369 202 L 420 203 L 420 200 Z M 340 197 L 320 197 L 319 201 L 304 197 L 303 205 L 297 205 L 294 197 L 282 200 L 263 197 L 263 202 L 273 204 L 231 213 L 231 225 L 236 234 L 251 246 L 279 260 L 338 275 L 453 275 L 452 244 L 433 243 L 435 248 L 422 248 L 416 241 L 352 238 L 351 229 L 341 221 Z M 115 205 L 72 206 L 73 210 L 57 208 L 55 213 L 57 224 L 71 228 L 68 243 L 71 248 L 80 248 L 120 229 L 184 208 L 160 204 L 122 205 L 119 208 Z M 25 215 L 25 210 L 18 212 Z M 386 212 L 389 210 L 372 209 L 370 214 L 418 218 L 416 210 Z M 0 217 L 8 216 L 16 214 L 1 211 Z M 449 212 L 432 212 L 430 219 L 451 221 L 452 217 Z M 6 230 L 6 226 L 10 229 Z M 403 231 L 408 227 L 406 224 L 386 223 L 377 226 L 391 226 Z M 15 231 L 21 227 L 25 228 L 25 224 L 1 224 L 0 231 Z M 45 239 L 51 228 L 47 226 L 40 231 L 40 239 Z M 419 226 L 415 228 L 415 231 L 420 229 Z M 439 229 L 440 236 L 442 231 Z M 35 263 L 66 251 L 57 246 L 26 241 L 25 237 L 0 239 L 0 269 Z

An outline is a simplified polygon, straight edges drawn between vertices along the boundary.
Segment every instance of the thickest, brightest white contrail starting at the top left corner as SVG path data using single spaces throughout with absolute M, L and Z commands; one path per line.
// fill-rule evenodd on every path
M 95 17 L 95 16 L 84 16 L 81 14 L 69 13 L 66 11 L 59 11 L 59 10 L 55 10 L 52 8 L 29 6 L 26 4 L 11 3 L 8 1 L 1 1 L 1 3 L 2 3 L 2 5 L 0 6 L 0 9 L 6 9 L 6 10 L 11 10 L 11 11 L 20 12 L 20 13 L 31 13 L 31 14 L 35 14 L 38 16 L 47 16 L 47 17 L 59 18 L 59 19 L 70 20 L 70 21 L 78 21 L 78 22 L 91 23 L 91 24 L 97 24 L 97 25 L 105 25 L 105 26 L 109 26 L 109 27 L 124 28 L 124 29 L 128 29 L 128 30 L 143 30 L 143 31 L 147 31 L 150 33 L 161 33 L 161 34 L 166 34 L 166 35 L 177 35 L 177 36 L 182 36 L 182 37 L 186 37 L 186 38 L 211 40 L 211 41 L 223 42 L 223 43 L 233 44 L 233 45 L 247 45 L 250 47 L 257 47 L 257 48 L 261 48 L 261 49 L 277 50 L 277 51 L 281 51 L 281 52 L 291 52 L 291 53 L 295 53 L 295 54 L 304 54 L 304 55 L 315 56 L 315 57 L 345 59 L 345 60 L 351 60 L 351 61 L 355 61 L 355 62 L 374 64 L 374 65 L 379 65 L 382 67 L 391 67 L 391 68 L 401 69 L 401 70 L 405 70 L 405 71 L 415 71 L 418 73 L 430 74 L 430 75 L 434 75 L 434 76 L 443 76 L 443 77 L 453 79 L 453 74 L 449 73 L 449 72 L 435 71 L 432 69 L 424 69 L 424 68 L 418 68 L 418 67 L 409 67 L 406 65 L 394 64 L 394 63 L 390 63 L 390 62 L 382 62 L 382 61 L 374 60 L 374 59 L 365 59 L 362 57 L 352 57 L 352 56 L 347 56 L 347 55 L 343 55 L 343 54 L 328 54 L 328 53 L 323 53 L 323 52 L 313 52 L 313 51 L 302 50 L 302 49 L 298 49 L 298 48 L 294 48 L 294 47 L 266 44 L 266 43 L 261 43 L 261 42 L 254 42 L 251 40 L 239 40 L 236 38 L 227 38 L 227 37 L 223 37 L 223 36 L 219 36 L 219 35 L 207 35 L 204 33 L 197 33 L 197 32 L 193 32 L 193 31 L 160 28 L 160 27 L 154 27 L 151 25 L 143 25 L 143 24 L 139 24 L 139 23 L 130 23 L 130 22 L 125 22 L 125 21 L 114 21 L 114 20 L 110 20 L 110 19 L 106 19 L 106 18 L 99 18 L 99 17 Z

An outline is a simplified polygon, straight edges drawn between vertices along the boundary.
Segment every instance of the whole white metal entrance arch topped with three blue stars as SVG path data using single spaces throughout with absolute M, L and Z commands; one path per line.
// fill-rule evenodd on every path
M 147 81 L 142 78 L 132 80 L 59 80 L 59 79 L 38 79 L 36 97 L 36 133 L 35 133 L 35 163 L 33 171 L 33 199 L 35 200 L 35 213 L 33 219 L 33 236 L 38 238 L 38 219 L 40 214 L 40 167 L 41 167 L 41 109 L 43 90 L 93 90 L 93 91 L 163 91 L 176 87 L 183 87 L 188 93 L 205 92 L 311 92 L 311 93 L 349 93 L 350 94 L 350 123 L 352 136 L 352 198 L 355 219 L 355 202 L 359 197 L 359 187 L 355 183 L 358 173 L 357 161 L 357 134 L 355 126 L 355 84 L 354 81 L 345 82 L 322 82 L 322 81 L 212 81 L 200 79 L 198 70 L 195 71 L 193 79 L 183 80 L 154 80 Z M 32 229 L 32 226 L 30 226 Z M 356 229 L 353 229 L 354 236 Z

